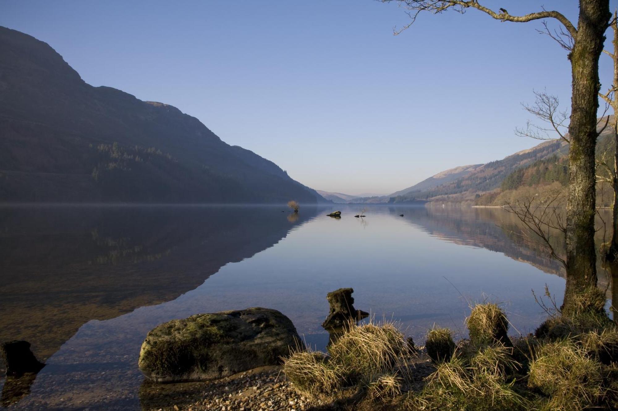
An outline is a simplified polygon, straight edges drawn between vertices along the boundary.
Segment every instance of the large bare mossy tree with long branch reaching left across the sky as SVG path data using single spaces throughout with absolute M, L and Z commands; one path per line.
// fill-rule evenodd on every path
M 570 60 L 572 74 L 569 192 L 565 225 L 567 287 L 564 298 L 565 304 L 569 304 L 574 294 L 580 294 L 590 286 L 595 286 L 597 281 L 594 241 L 596 115 L 600 90 L 599 56 L 603 51 L 604 33 L 612 17 L 609 0 L 580 0 L 577 27 L 564 14 L 542 7 L 538 12 L 511 15 L 503 8 L 496 12 L 485 7 L 481 0 L 382 1 L 398 2 L 407 9 L 412 21 L 403 30 L 410 27 L 421 12 L 441 14 L 454 10 L 464 13 L 468 9 L 476 9 L 502 22 L 554 19 L 562 24 L 562 31 L 572 38 L 572 44 L 568 43 L 568 40 L 563 41 L 563 47 L 569 48 L 567 58 Z

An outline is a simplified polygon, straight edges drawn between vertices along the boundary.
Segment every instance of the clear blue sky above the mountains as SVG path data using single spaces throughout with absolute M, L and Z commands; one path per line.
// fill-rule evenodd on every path
M 576 0 L 481 4 L 577 22 Z M 87 83 L 176 106 L 325 191 L 389 194 L 502 159 L 540 143 L 514 134 L 533 91 L 570 106 L 567 53 L 540 21 L 421 14 L 393 35 L 408 22 L 375 0 L 0 0 L 0 25 L 50 44 Z M 600 73 L 606 88 L 605 55 Z

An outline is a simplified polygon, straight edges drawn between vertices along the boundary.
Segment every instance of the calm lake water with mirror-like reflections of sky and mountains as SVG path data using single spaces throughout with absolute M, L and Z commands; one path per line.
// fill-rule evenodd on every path
M 501 209 L 358 211 L 0 208 L 0 341 L 26 339 L 47 363 L 11 408 L 139 409 L 143 338 L 195 313 L 277 309 L 323 348 L 326 293 L 341 287 L 417 342 L 434 324 L 465 336 L 469 302 L 501 303 L 513 333 L 544 318 L 531 289 L 548 284 L 561 303 L 560 265 Z

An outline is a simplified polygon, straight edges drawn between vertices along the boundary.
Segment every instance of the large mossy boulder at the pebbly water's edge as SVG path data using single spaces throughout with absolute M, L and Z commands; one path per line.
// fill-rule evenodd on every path
M 303 347 L 296 328 L 277 310 L 222 311 L 156 326 L 138 365 L 160 383 L 205 381 L 279 364 L 295 347 Z

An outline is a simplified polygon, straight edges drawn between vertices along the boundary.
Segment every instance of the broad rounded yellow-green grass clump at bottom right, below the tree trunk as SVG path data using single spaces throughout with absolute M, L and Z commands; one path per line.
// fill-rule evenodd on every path
M 530 365 L 528 387 L 549 396 L 552 410 L 583 410 L 604 395 L 601 363 L 572 340 L 549 342 L 538 348 Z

